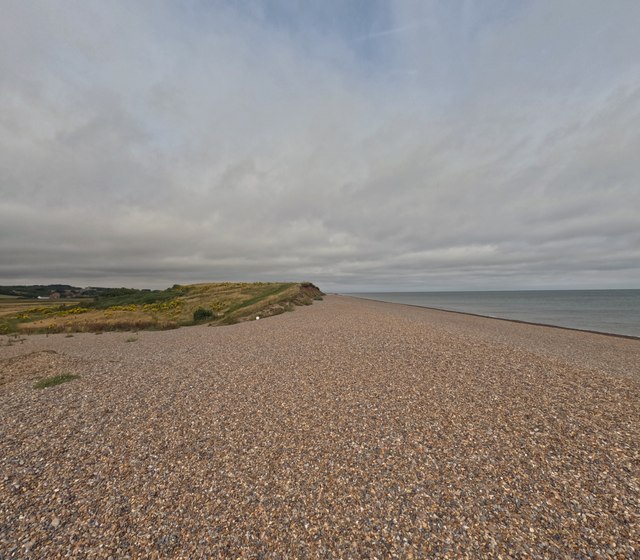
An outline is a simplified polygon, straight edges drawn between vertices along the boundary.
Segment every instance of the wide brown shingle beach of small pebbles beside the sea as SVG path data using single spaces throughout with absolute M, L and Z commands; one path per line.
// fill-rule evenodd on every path
M 638 340 L 328 296 L 6 343 L 2 559 L 640 557 Z

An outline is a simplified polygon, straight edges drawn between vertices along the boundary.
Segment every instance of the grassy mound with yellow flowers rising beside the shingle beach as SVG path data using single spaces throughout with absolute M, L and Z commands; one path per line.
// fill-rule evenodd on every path
M 93 300 L 4 300 L 0 333 L 101 332 L 172 329 L 206 323 L 233 324 L 264 318 L 296 305 L 310 305 L 323 293 L 310 282 L 222 282 L 175 285 L 167 290 L 107 290 Z

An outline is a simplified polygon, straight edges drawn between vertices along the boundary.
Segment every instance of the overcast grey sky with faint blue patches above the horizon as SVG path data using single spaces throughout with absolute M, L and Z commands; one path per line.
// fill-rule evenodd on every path
M 640 288 L 637 0 L 0 13 L 0 284 Z

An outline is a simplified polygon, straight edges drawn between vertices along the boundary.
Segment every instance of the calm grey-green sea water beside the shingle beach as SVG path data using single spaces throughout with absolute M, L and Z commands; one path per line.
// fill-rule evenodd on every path
M 640 337 L 640 290 L 371 292 L 349 295 Z

